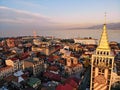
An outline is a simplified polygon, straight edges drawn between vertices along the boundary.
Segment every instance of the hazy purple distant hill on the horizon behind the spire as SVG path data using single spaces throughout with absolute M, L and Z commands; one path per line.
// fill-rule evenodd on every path
M 96 25 L 88 27 L 87 29 L 101 29 L 103 25 Z M 109 23 L 107 24 L 107 29 L 120 30 L 120 23 Z

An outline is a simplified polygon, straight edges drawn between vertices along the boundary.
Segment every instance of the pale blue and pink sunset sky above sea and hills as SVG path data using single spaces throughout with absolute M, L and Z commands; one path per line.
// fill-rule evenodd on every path
M 103 24 L 105 12 L 120 22 L 120 0 L 0 0 L 0 35 Z

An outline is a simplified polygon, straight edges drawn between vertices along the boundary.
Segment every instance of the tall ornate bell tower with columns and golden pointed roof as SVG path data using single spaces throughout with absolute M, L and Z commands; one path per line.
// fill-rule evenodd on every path
M 103 25 L 99 45 L 92 55 L 90 90 L 110 90 L 114 55 L 108 43 L 106 22 Z

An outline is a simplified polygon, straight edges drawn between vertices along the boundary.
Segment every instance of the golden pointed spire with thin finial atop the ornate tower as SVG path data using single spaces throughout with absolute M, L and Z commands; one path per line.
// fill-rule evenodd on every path
M 99 41 L 98 49 L 110 49 L 109 43 L 108 43 L 108 35 L 107 35 L 107 28 L 106 28 L 106 12 L 104 15 L 104 25 L 103 25 L 103 31 L 102 35 Z

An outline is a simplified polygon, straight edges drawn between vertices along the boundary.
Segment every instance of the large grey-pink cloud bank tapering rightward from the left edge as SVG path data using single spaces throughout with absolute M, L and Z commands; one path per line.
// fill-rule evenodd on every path
M 40 23 L 50 24 L 50 18 L 39 13 L 31 13 L 28 11 L 16 10 L 8 7 L 0 6 L 0 22 L 12 23 Z

